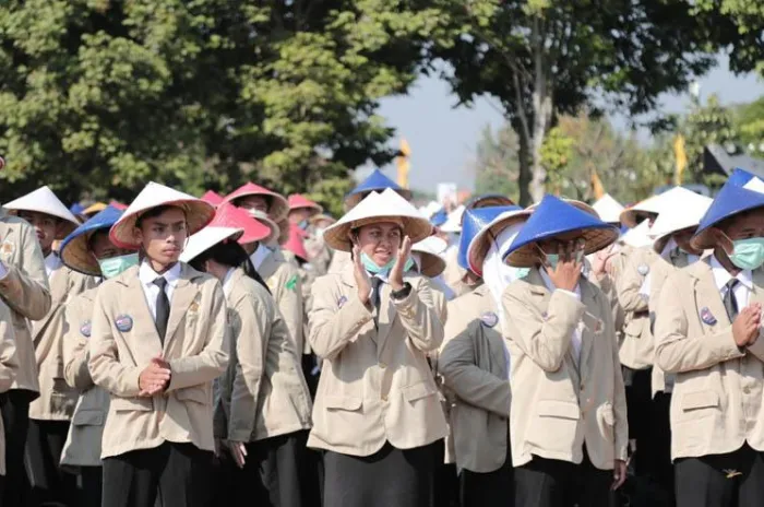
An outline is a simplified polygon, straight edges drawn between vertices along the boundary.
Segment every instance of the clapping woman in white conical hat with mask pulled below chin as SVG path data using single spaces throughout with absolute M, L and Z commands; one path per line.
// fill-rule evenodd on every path
M 411 244 L 431 231 L 385 190 L 324 233 L 354 259 L 315 281 L 310 315 L 323 368 L 308 446 L 325 451 L 325 506 L 432 505 L 446 425 L 427 354 L 440 346 L 443 323 L 429 281 L 406 270 Z

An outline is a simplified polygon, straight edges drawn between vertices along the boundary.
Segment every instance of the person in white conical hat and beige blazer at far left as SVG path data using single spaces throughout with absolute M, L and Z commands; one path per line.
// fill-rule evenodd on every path
M 53 249 L 79 221 L 48 187 L 7 203 L 5 209 L 35 228 L 52 298 L 47 315 L 32 323 L 40 397 L 29 404 L 24 458 L 31 485 L 27 502 L 71 504 L 76 497 L 76 477 L 58 467 L 76 399 L 63 380 L 61 367 L 63 305 L 68 298 L 93 286 L 93 280 L 65 268 Z

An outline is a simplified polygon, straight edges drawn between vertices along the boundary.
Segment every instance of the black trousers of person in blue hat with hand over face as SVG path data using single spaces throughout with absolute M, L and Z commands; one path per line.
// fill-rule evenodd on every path
M 574 464 L 534 456 L 515 469 L 516 507 L 607 507 L 614 502 L 610 491 L 612 470 L 599 470 L 584 452 Z

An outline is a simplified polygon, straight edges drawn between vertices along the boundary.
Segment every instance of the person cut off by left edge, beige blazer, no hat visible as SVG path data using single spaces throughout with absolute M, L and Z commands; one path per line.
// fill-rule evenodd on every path
M 34 227 L 0 208 L 0 298 L 11 309 L 16 345 L 16 369 L 8 392 L 0 394 L 5 435 L 7 487 L 0 504 L 21 507 L 26 481 L 24 449 L 29 425 L 29 402 L 39 396 L 37 362 L 32 342 L 31 320 L 50 310 L 51 298 L 45 256 Z

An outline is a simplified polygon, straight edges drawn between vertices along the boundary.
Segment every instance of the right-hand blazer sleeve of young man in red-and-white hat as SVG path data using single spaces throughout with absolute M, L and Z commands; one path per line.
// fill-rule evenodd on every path
M 170 361 L 170 384 L 167 393 L 187 387 L 212 382 L 228 366 L 228 315 L 220 284 L 214 282 L 212 308 L 204 349 L 196 354 Z

